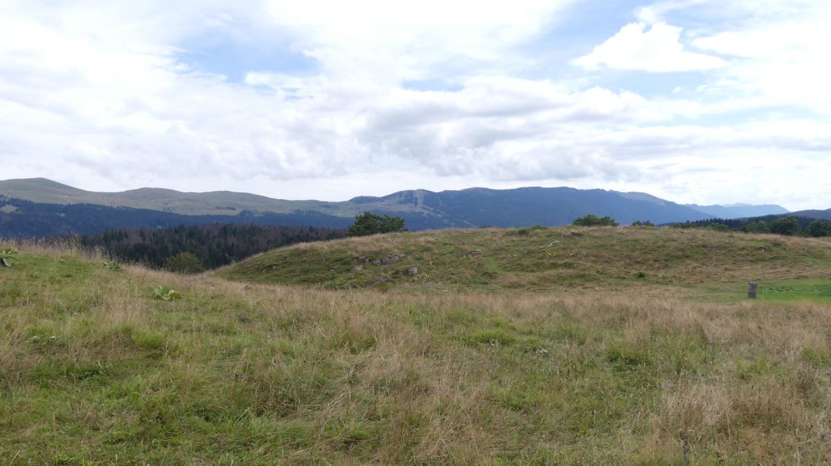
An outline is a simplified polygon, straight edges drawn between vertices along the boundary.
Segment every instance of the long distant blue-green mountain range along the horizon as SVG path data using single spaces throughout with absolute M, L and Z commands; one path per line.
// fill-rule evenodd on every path
M 621 224 L 784 214 L 781 206 L 681 205 L 642 192 L 571 187 L 410 190 L 349 201 L 287 201 L 243 192 L 141 188 L 90 192 L 45 178 L 0 181 L 0 236 L 86 234 L 120 227 L 253 223 L 342 227 L 363 211 L 402 216 L 410 230 L 477 226 L 558 226 L 578 216 Z

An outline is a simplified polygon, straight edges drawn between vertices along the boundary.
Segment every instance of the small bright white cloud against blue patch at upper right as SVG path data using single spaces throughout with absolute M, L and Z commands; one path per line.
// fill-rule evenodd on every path
M 573 63 L 588 70 L 606 66 L 653 73 L 714 70 L 726 65 L 716 56 L 684 50 L 680 40 L 681 27 L 658 22 L 647 30 L 646 24 L 631 22 Z

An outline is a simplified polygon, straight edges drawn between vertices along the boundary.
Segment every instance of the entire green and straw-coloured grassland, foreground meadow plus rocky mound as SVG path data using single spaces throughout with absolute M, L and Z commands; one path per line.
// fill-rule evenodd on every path
M 0 464 L 831 460 L 828 242 L 568 232 L 335 241 L 220 273 L 322 287 L 27 248 L 0 269 Z M 546 265 L 553 240 L 573 268 Z

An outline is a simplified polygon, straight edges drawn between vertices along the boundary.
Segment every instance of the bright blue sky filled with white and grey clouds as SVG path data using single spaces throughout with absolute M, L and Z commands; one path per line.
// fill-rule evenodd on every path
M 0 2 L 0 178 L 831 207 L 827 0 Z

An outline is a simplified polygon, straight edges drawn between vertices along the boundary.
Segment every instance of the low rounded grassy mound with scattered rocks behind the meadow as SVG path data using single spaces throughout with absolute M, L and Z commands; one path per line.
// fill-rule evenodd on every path
M 824 279 L 829 269 L 831 243 L 822 240 L 668 228 L 526 228 L 427 231 L 295 245 L 217 274 L 250 283 L 332 289 L 374 284 L 534 290 Z

